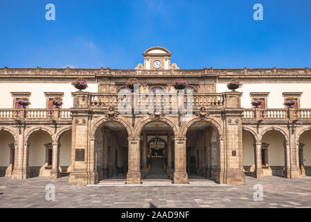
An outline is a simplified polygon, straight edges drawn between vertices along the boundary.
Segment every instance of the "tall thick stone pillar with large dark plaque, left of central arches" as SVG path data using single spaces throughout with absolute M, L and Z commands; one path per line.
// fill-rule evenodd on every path
M 91 137 L 91 95 L 89 92 L 73 92 L 72 144 L 69 185 L 91 185 L 98 182 L 95 166 L 94 137 Z

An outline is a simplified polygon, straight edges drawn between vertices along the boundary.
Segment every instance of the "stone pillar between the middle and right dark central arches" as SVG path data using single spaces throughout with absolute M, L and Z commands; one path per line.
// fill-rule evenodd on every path
M 186 138 L 175 137 L 175 171 L 174 183 L 188 183 L 186 171 Z

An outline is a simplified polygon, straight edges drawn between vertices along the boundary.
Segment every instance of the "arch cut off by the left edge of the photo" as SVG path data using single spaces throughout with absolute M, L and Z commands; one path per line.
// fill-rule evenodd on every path
M 15 159 L 15 139 L 6 130 L 0 130 L 0 176 L 12 176 Z

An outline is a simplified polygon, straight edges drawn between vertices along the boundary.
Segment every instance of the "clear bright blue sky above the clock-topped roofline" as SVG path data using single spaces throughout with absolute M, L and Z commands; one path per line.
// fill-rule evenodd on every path
M 55 21 L 45 6 L 55 5 Z M 255 3 L 263 21 L 254 21 Z M 131 69 L 163 46 L 181 69 L 311 67 L 310 0 L 1 0 L 0 67 Z

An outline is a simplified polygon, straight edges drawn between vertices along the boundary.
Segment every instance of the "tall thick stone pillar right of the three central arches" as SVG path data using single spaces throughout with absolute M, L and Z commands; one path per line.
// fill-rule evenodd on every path
M 225 92 L 222 111 L 223 141 L 220 139 L 220 169 L 216 181 L 227 185 L 245 185 L 242 163 L 241 92 Z

